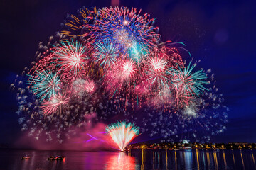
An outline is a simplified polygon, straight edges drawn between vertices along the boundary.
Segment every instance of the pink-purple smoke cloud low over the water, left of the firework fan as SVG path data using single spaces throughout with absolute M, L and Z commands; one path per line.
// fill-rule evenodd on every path
M 93 127 L 73 128 L 74 135 L 69 139 L 64 140 L 63 143 L 46 142 L 45 137 L 39 137 L 35 140 L 33 136 L 28 136 L 28 132 L 14 143 L 14 147 L 21 149 L 41 149 L 41 150 L 113 150 L 117 149 L 109 135 L 105 133 L 106 125 L 104 123 L 97 123 Z

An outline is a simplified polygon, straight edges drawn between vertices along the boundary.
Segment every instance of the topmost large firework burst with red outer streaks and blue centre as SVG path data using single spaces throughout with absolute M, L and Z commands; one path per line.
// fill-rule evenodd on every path
M 119 50 L 126 52 L 134 42 L 146 47 L 154 48 L 159 42 L 158 28 L 154 27 L 154 19 L 149 14 L 139 16 L 136 8 L 129 11 L 126 7 L 102 8 L 100 19 L 92 27 L 92 38 L 107 38 L 119 46 Z

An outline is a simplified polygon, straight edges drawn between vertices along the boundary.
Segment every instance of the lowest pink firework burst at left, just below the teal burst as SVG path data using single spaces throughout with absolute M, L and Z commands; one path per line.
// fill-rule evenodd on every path
M 41 106 L 42 111 L 45 115 L 62 113 L 68 108 L 69 100 L 69 96 L 65 94 L 56 94 L 50 100 L 44 101 L 43 106 Z

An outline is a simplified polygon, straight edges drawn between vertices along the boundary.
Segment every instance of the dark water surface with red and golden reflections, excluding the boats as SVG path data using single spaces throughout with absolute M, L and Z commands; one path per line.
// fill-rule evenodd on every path
M 21 160 L 28 154 L 30 159 Z M 132 152 L 78 152 L 0 150 L 0 170 L 48 169 L 256 169 L 255 150 L 132 150 Z M 65 156 L 49 161 L 48 156 Z

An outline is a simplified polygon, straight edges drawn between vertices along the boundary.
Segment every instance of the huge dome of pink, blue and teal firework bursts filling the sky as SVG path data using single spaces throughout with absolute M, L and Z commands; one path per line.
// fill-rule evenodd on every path
M 73 127 L 117 116 L 168 141 L 208 141 L 223 132 L 228 108 L 210 69 L 198 69 L 182 42 L 162 42 L 154 19 L 141 13 L 110 7 L 68 15 L 11 84 L 22 130 L 63 142 Z M 139 130 L 117 123 L 107 132 L 124 149 Z

